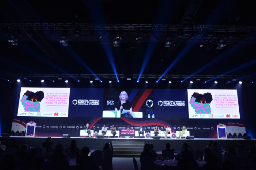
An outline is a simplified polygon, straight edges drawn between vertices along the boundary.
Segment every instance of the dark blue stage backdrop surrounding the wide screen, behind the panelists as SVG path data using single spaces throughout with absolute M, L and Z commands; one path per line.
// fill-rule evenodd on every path
M 104 81 L 105 82 L 105 81 Z M 190 131 L 191 135 L 194 135 L 196 138 L 207 138 L 207 137 L 215 137 L 215 127 L 219 123 L 239 123 L 243 126 L 246 126 L 246 133 L 250 135 L 252 138 L 255 138 L 255 119 L 256 119 L 256 112 L 255 108 L 253 107 L 253 103 L 256 103 L 256 90 L 253 85 L 249 84 L 197 84 L 197 82 L 193 83 L 193 85 L 188 84 L 181 84 L 178 82 L 173 82 L 170 84 L 151 84 L 145 85 L 145 83 L 136 83 L 132 81 L 125 81 L 120 84 L 112 83 L 111 85 L 107 83 L 81 83 L 77 84 L 77 82 L 69 81 L 68 83 L 63 82 L 56 82 L 55 84 L 45 81 L 44 84 L 37 83 L 34 84 L 33 87 L 52 87 L 52 88 L 104 88 L 104 89 L 117 89 L 118 93 L 123 89 L 239 89 L 241 90 L 241 100 L 242 100 L 242 108 L 243 108 L 243 119 L 233 119 L 232 116 L 229 119 L 197 119 L 197 118 L 161 118 L 155 117 L 152 118 L 100 118 L 98 116 L 91 116 L 91 117 L 23 117 L 23 116 L 13 116 L 15 113 L 15 100 L 17 96 L 17 88 L 18 87 L 31 87 L 30 82 L 20 82 L 17 83 L 16 80 L 12 80 L 8 83 L 0 82 L 1 83 L 1 101 L 2 101 L 2 131 L 1 133 L 10 133 L 11 126 L 14 119 L 20 119 L 21 122 L 29 122 L 34 121 L 37 123 L 37 133 L 41 133 L 42 135 L 49 136 L 49 134 L 58 134 L 62 135 L 64 133 L 70 133 L 72 136 L 77 137 L 79 136 L 79 130 L 83 129 L 80 126 L 85 126 L 86 123 L 92 123 L 94 121 L 95 130 L 99 130 L 103 124 L 106 124 L 108 127 L 111 125 L 115 125 L 121 128 L 132 128 L 138 127 L 142 125 L 143 127 L 152 129 L 154 125 L 158 125 L 164 127 L 159 122 L 164 122 L 164 124 L 169 124 L 173 127 L 174 130 L 178 130 L 178 127 L 187 126 L 188 130 Z M 213 82 L 214 83 L 214 82 Z M 195 84 L 195 86 L 194 86 Z M 103 100 L 105 101 L 105 97 L 103 96 Z M 155 96 L 154 96 L 155 97 Z M 115 99 L 116 100 L 116 99 Z M 154 98 L 154 100 L 156 100 Z M 154 101 L 152 100 L 152 101 Z M 162 99 L 165 100 L 165 99 Z M 103 103 L 107 104 L 107 103 Z M 154 110 L 157 102 L 154 101 Z M 160 106 L 159 106 L 160 107 Z M 112 110 L 112 109 L 111 109 Z M 18 122 L 19 122 L 18 121 Z M 150 124 L 146 124 L 146 122 L 151 122 Z M 159 122 L 157 122 L 159 121 Z M 136 122 L 136 123 L 134 123 Z M 23 123 L 23 124 L 24 124 Z M 120 126 L 121 125 L 121 126 Z M 41 127 L 40 127 L 41 126 Z M 45 128 L 44 128 L 45 126 Z M 47 127 L 49 126 L 49 127 Z M 52 126 L 52 127 L 51 127 Z M 58 127 L 56 127 L 58 126 Z M 61 126 L 61 128 L 60 128 Z M 70 126 L 69 128 L 63 128 L 63 126 Z M 78 126 L 78 128 L 77 128 Z M 99 128 L 97 128 L 99 127 Z M 175 129 L 176 128 L 176 129 Z M 200 129 L 199 129 L 200 128 Z M 202 129 L 203 128 L 203 129 Z M 212 129 L 213 128 L 213 129 Z M 120 130 L 120 129 L 118 129 Z M 148 129 L 149 130 L 149 129 Z M 48 134 L 47 134 L 48 133 Z

